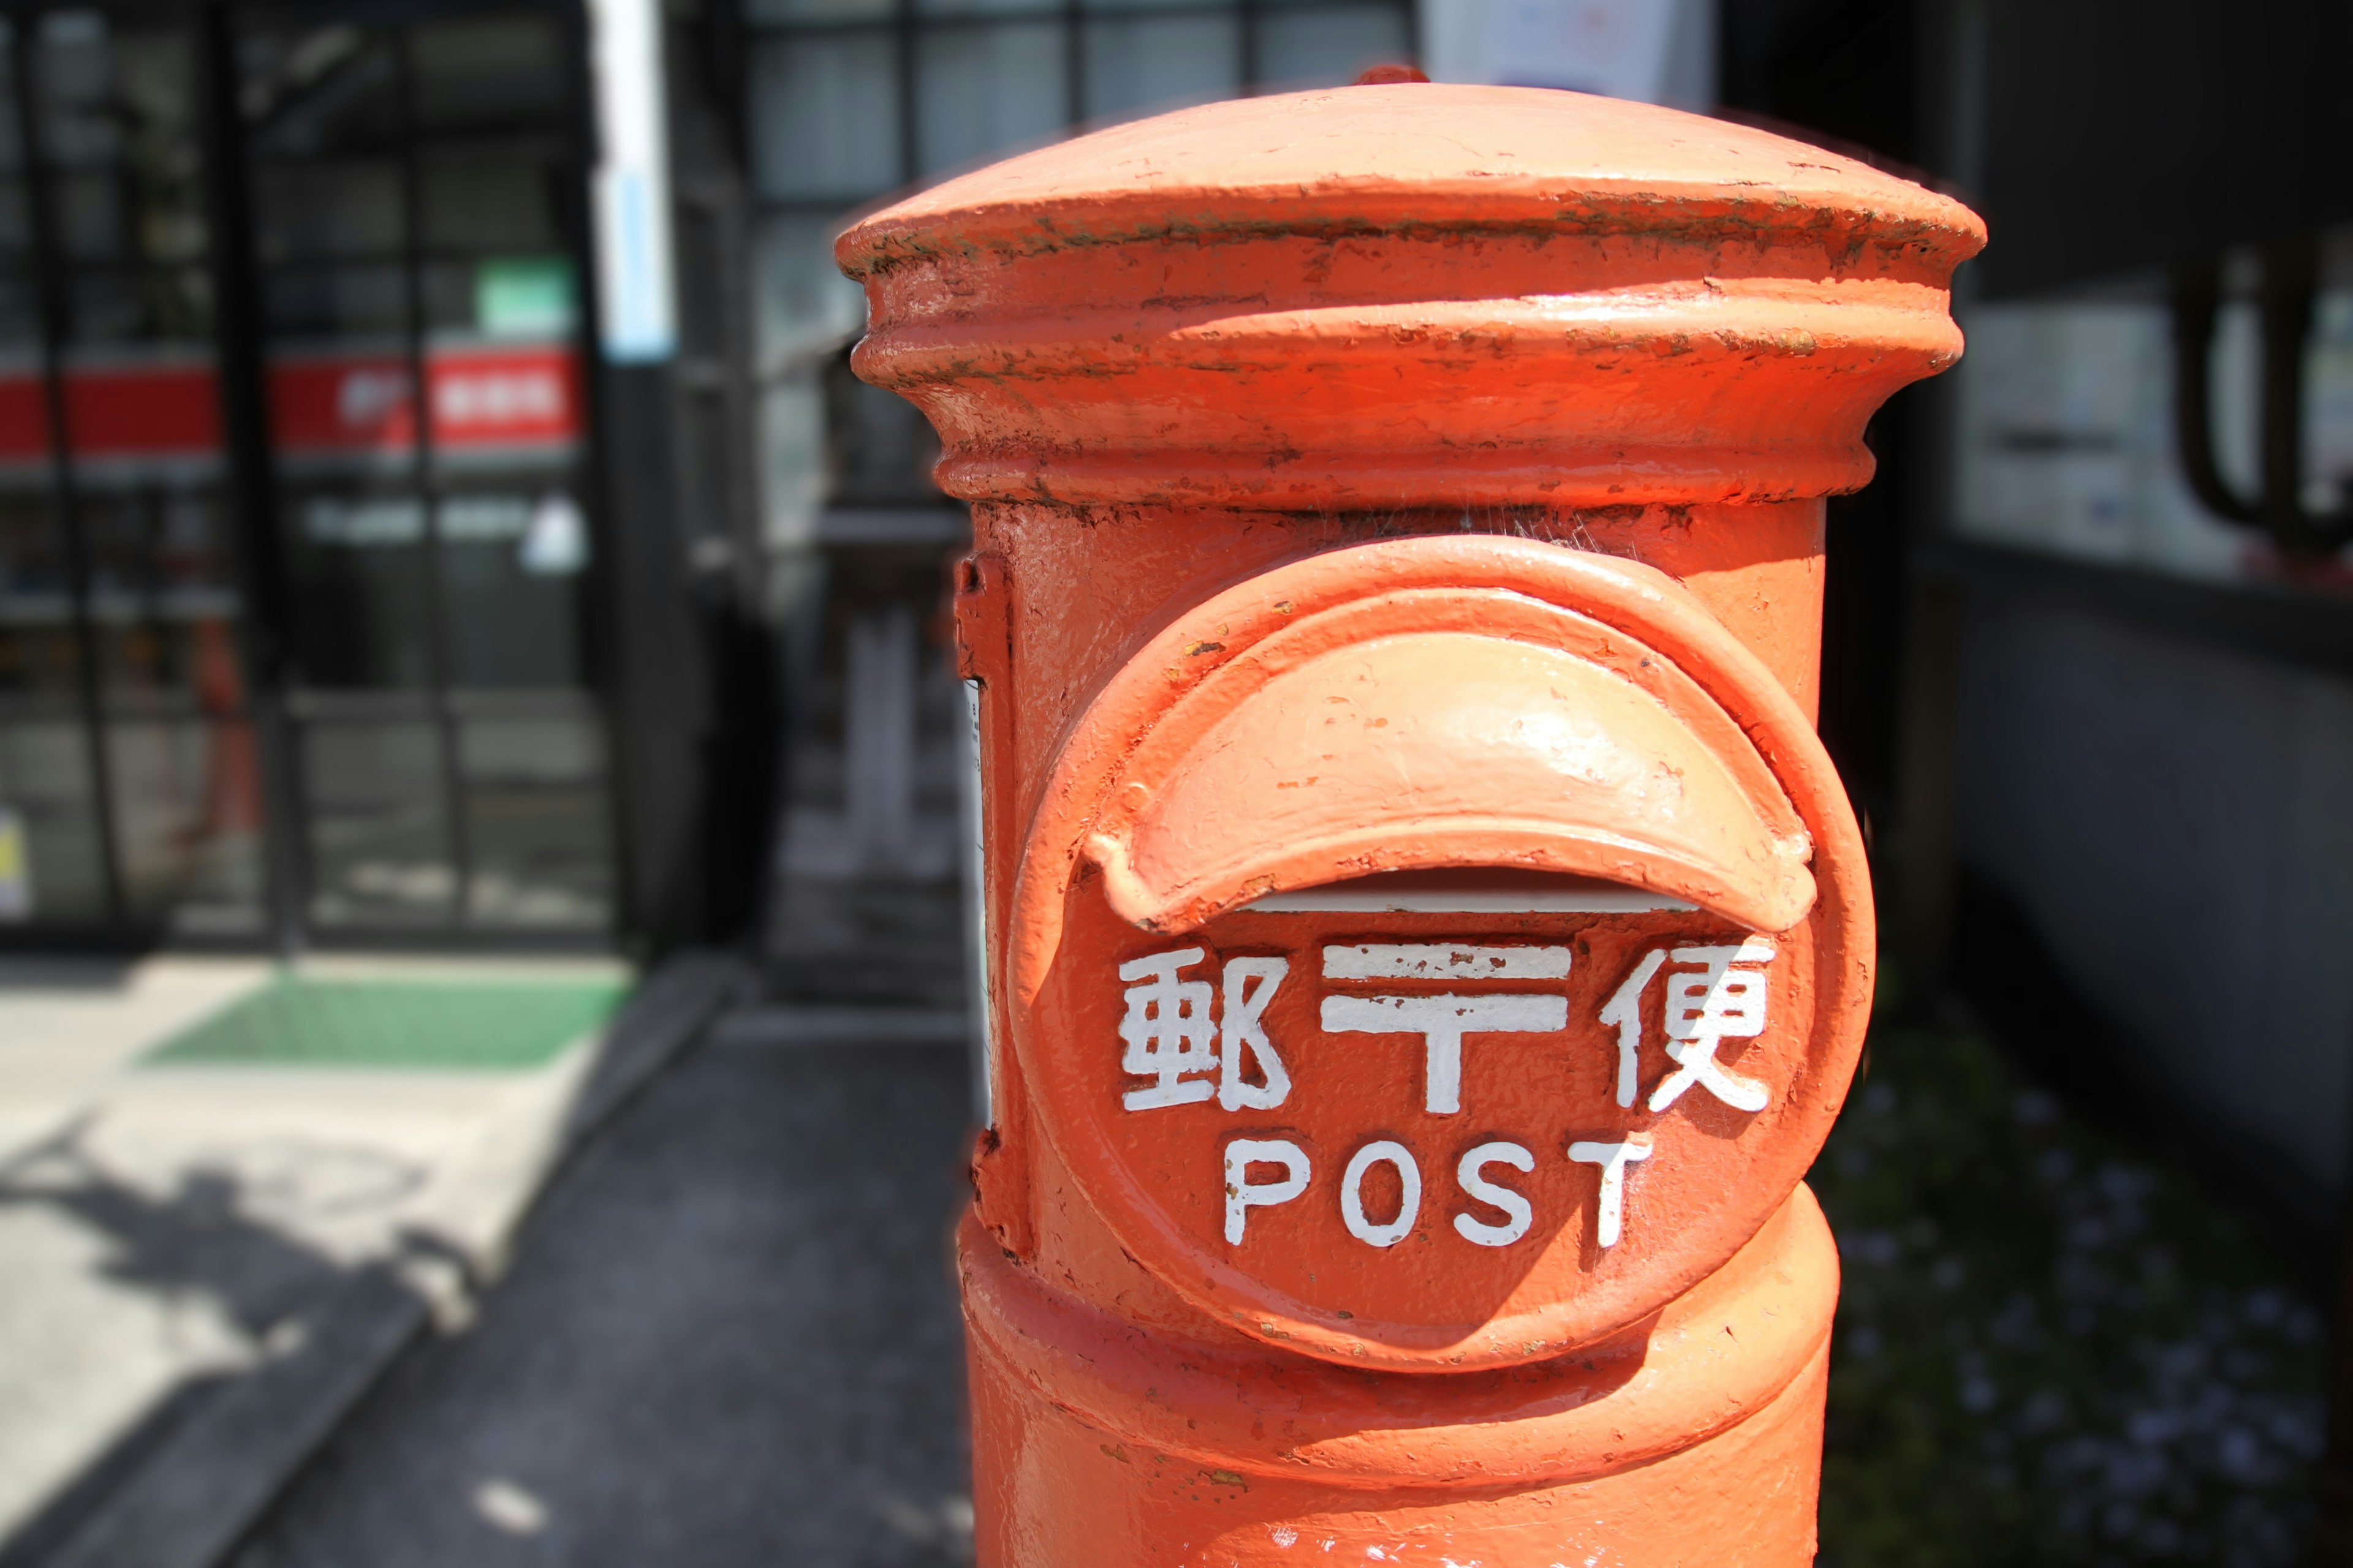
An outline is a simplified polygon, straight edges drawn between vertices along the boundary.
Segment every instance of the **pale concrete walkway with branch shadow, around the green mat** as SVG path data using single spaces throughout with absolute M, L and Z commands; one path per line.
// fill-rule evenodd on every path
M 327 980 L 626 980 L 315 961 Z M 579 1131 L 741 990 L 701 959 L 518 1070 L 155 1063 L 268 964 L 0 966 L 0 1566 L 200 1563 L 428 1312 L 461 1316 Z

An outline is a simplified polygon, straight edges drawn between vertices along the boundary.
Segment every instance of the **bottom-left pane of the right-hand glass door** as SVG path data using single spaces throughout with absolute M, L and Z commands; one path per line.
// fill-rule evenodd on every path
M 445 924 L 456 863 L 431 724 L 311 724 L 301 736 L 311 917 L 322 926 Z

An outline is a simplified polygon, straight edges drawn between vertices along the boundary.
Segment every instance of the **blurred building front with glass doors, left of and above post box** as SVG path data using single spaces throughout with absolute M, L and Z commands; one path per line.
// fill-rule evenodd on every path
M 0 936 L 960 983 L 965 520 L 831 235 L 1426 31 L 1711 99 L 1704 7 L 1574 9 L 9 7 Z

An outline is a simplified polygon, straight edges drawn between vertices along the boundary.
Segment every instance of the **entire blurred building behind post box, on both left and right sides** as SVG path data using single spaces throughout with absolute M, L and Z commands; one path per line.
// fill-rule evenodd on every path
M 1421 59 L 1988 212 L 1960 376 L 1833 508 L 1824 729 L 1918 971 L 2325 1229 L 2348 24 L 2177 9 L 7 7 L 0 943 L 746 940 L 784 994 L 953 1004 L 967 522 L 847 369 L 831 237 L 1089 125 Z

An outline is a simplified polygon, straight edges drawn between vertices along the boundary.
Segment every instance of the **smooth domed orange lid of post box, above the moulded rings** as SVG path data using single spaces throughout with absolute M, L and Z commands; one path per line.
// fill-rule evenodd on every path
M 1960 202 L 1852 158 L 1652 103 L 1388 82 L 1184 108 L 944 181 L 852 228 L 852 277 L 941 247 L 1007 254 L 1219 233 L 1478 228 L 1828 237 L 1951 268 Z

